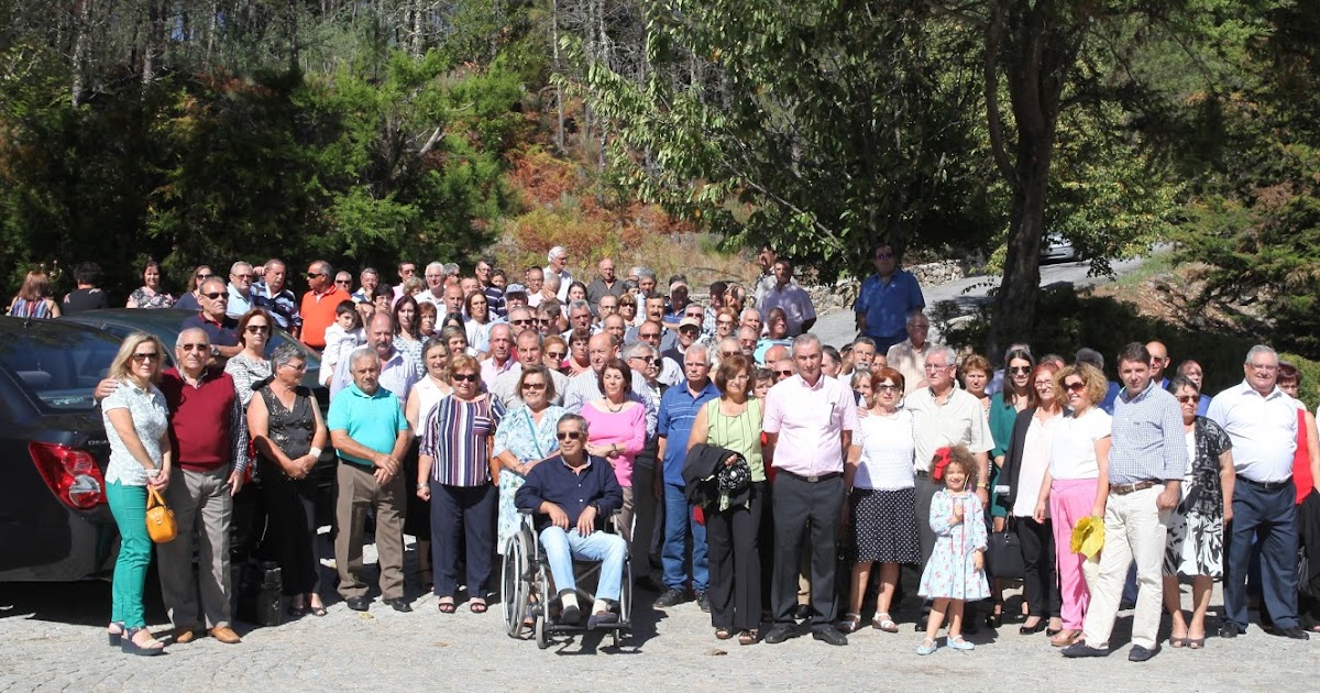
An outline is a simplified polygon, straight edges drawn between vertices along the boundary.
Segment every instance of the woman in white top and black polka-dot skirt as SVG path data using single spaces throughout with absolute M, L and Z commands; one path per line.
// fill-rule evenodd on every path
M 849 545 L 853 549 L 853 590 L 847 614 L 840 623 L 843 632 L 855 631 L 862 620 L 862 598 L 871 577 L 871 565 L 880 564 L 880 594 L 871 626 L 898 632 L 890 618 L 899 564 L 916 564 L 921 549 L 916 533 L 916 488 L 912 457 L 916 441 L 912 413 L 898 408 L 903 397 L 903 374 L 878 368 L 870 379 L 858 380 L 867 416 L 858 418 L 853 446 L 843 466 L 843 488 L 849 503 Z M 849 521 L 850 520 L 850 521 Z

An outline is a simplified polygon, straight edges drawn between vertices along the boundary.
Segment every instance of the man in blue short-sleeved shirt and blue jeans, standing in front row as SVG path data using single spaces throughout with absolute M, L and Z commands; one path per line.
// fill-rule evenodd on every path
M 688 436 L 697 412 L 708 401 L 719 397 L 719 389 L 710 381 L 710 352 L 702 345 L 692 345 L 684 354 L 684 374 L 681 384 L 671 387 L 660 397 L 660 418 L 656 433 L 660 447 L 656 457 L 664 465 L 664 548 L 660 561 L 664 564 L 665 591 L 656 599 L 660 609 L 688 601 L 684 569 L 684 556 L 688 531 L 692 529 L 692 590 L 702 611 L 710 611 L 706 601 L 709 568 L 706 562 L 706 528 L 692 521 L 692 507 L 684 492 L 682 463 L 688 459 Z

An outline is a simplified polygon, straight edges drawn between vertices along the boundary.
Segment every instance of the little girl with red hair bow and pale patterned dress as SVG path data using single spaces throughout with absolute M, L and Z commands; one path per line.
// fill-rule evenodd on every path
M 932 470 L 937 480 L 942 473 L 944 488 L 931 499 L 935 552 L 925 564 L 917 591 L 935 605 L 917 655 L 936 651 L 936 635 L 945 614 L 949 618 L 948 645 L 973 649 L 975 645 L 962 639 L 962 605 L 990 597 L 985 574 L 986 520 L 981 502 L 970 491 L 977 477 L 975 458 L 961 445 L 941 447 L 935 453 Z

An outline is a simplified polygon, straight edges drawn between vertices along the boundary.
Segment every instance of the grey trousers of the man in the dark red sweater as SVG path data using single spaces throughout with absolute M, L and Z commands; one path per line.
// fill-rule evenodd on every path
M 174 627 L 202 624 L 228 626 L 230 612 L 230 519 L 234 496 L 230 495 L 230 466 L 211 471 L 189 471 L 174 467 L 165 503 L 174 511 L 178 536 L 156 546 L 160 558 L 161 597 Z M 193 546 L 197 546 L 198 579 L 193 581 Z M 201 586 L 202 605 L 197 597 Z

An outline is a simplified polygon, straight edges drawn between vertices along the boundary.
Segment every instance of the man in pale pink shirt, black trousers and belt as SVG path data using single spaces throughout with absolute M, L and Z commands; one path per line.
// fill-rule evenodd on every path
M 821 343 L 813 334 L 793 339 L 797 375 L 766 396 L 766 463 L 777 470 L 774 486 L 775 568 L 771 609 L 775 624 L 766 642 L 793 635 L 797 566 L 803 537 L 812 544 L 812 638 L 846 645 L 834 628 L 834 565 L 843 504 L 843 459 L 857 429 L 857 404 L 847 384 L 825 378 Z

